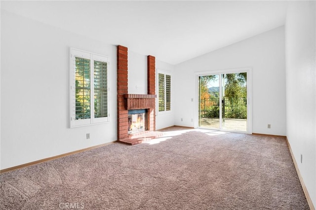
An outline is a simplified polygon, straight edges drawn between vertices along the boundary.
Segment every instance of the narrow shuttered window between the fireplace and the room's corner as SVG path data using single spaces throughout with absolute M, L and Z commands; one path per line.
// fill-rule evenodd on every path
M 158 71 L 158 113 L 171 111 L 171 75 Z

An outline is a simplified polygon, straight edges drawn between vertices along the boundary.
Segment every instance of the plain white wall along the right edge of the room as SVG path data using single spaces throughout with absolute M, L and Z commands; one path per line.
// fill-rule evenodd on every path
M 316 207 L 315 4 L 315 1 L 291 1 L 285 24 L 286 136 L 314 207 Z

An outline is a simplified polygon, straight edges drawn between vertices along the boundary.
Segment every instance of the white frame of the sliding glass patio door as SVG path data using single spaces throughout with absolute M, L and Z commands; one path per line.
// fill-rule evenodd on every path
M 207 76 L 207 75 L 216 75 L 219 74 L 228 74 L 228 73 L 242 73 L 247 72 L 247 131 L 235 131 L 235 130 L 225 130 L 221 129 L 222 124 L 222 114 L 220 114 L 220 131 L 228 131 L 228 132 L 235 132 L 235 133 L 245 133 L 245 134 L 252 134 L 252 68 L 236 68 L 236 69 L 224 69 L 224 70 L 208 70 L 208 71 L 196 71 L 196 97 L 195 97 L 195 120 L 194 120 L 194 127 L 198 128 L 198 119 L 199 119 L 199 111 L 198 111 L 198 103 L 199 103 L 199 76 Z M 222 78 L 219 79 L 222 82 Z M 222 85 L 222 83 L 220 83 Z M 220 94 L 222 94 L 222 88 L 220 88 Z M 222 108 L 220 106 L 220 112 Z M 222 112 L 221 112 L 222 113 Z

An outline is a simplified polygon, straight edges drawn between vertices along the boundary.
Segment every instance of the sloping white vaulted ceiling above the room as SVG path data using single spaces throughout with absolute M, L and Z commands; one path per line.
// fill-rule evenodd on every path
M 287 1 L 1 1 L 1 9 L 178 64 L 279 26 Z

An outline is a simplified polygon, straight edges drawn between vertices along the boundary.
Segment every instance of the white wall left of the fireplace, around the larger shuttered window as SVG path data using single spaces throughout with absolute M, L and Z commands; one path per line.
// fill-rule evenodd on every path
M 110 57 L 109 123 L 69 128 L 70 47 Z M 1 169 L 117 140 L 116 51 L 1 10 Z

